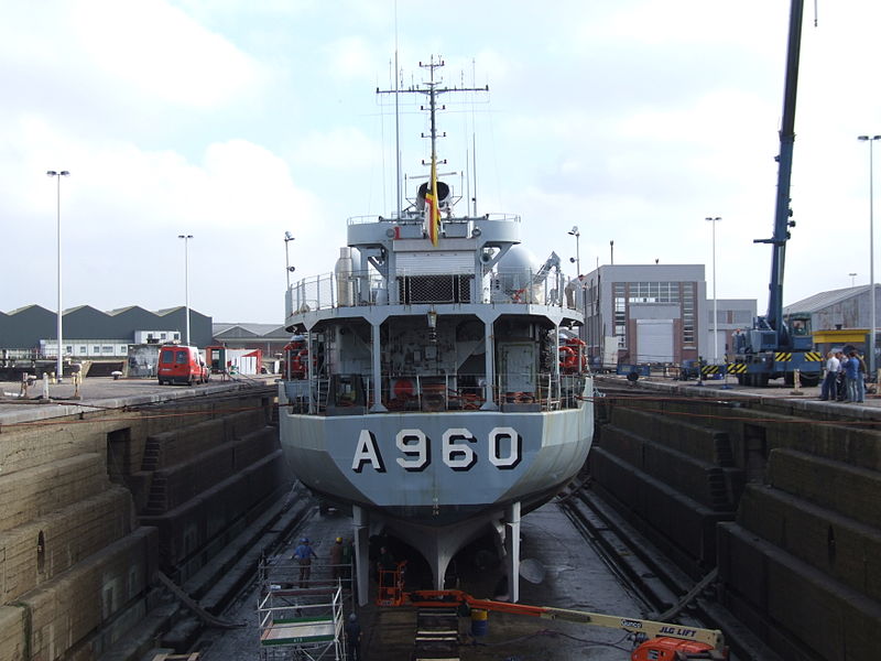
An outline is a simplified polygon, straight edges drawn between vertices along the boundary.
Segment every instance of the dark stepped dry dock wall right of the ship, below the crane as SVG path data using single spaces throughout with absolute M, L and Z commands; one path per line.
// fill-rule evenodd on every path
M 725 606 L 783 659 L 877 658 L 881 418 L 688 394 L 607 398 L 597 490 L 694 578 L 717 566 Z

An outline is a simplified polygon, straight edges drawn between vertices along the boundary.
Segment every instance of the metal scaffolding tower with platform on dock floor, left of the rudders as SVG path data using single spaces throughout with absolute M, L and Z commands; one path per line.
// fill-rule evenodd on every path
M 279 559 L 260 564 L 260 659 L 345 661 L 344 610 L 351 598 L 351 573 L 313 565 L 318 578 L 304 581 L 300 568 Z M 323 576 L 325 570 L 334 578 Z

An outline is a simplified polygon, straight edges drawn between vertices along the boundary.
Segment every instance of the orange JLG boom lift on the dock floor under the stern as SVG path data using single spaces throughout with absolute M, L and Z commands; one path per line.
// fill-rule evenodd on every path
M 391 573 L 391 572 L 390 572 Z M 686 661 L 688 659 L 728 659 L 725 637 L 718 629 L 700 629 L 668 622 L 587 613 L 551 606 L 527 606 L 492 599 L 478 599 L 457 589 L 414 590 L 387 588 L 380 605 L 416 608 L 456 608 L 459 615 L 472 609 L 512 613 L 544 619 L 564 620 L 591 627 L 619 629 L 634 635 L 630 661 Z

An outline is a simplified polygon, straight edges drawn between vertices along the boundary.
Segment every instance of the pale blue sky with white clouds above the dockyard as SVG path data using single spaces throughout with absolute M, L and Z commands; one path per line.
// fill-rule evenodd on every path
M 814 4 L 786 304 L 868 283 L 871 262 L 873 143 L 857 136 L 881 133 L 881 2 Z M 61 218 L 65 308 L 161 310 L 188 294 L 215 322 L 281 325 L 285 259 L 294 280 L 328 273 L 349 218 L 395 210 L 394 109 L 377 95 L 394 86 L 395 52 L 406 86 L 433 57 L 443 84 L 489 86 L 447 95 L 438 115 L 457 212 L 476 191 L 479 214 L 521 216 L 540 262 L 575 257 L 575 225 L 583 272 L 614 241 L 617 264 L 706 264 L 708 291 L 706 218 L 720 217 L 717 296 L 763 311 L 771 248 L 753 240 L 773 234 L 788 12 L 788 0 L 0 0 L 0 311 L 57 308 Z M 410 197 L 429 153 L 418 100 L 401 99 Z

